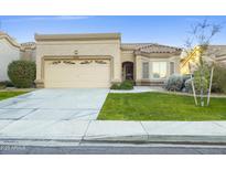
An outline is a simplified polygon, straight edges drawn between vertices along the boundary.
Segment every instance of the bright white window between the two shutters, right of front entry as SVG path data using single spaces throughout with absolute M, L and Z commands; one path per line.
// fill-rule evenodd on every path
M 166 77 L 166 62 L 153 62 L 152 73 L 153 78 L 165 78 Z

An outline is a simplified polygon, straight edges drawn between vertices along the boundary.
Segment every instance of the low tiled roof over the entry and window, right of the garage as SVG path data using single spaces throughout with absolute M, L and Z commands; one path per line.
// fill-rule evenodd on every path
M 181 53 L 182 49 L 175 47 L 175 46 L 168 46 L 168 45 L 161 45 L 157 43 L 122 43 L 121 44 L 122 50 L 133 50 L 136 54 L 138 53 Z

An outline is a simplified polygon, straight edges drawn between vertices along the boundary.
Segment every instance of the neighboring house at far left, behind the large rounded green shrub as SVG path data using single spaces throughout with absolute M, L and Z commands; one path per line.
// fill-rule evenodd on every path
M 35 46 L 35 44 L 34 44 Z M 25 60 L 35 61 L 34 52 L 35 47 L 21 46 L 14 39 L 4 32 L 0 32 L 0 82 L 9 81 L 8 65 L 12 61 L 24 60 L 24 54 L 32 51 L 31 54 L 26 54 Z M 29 56 L 30 55 L 30 56 Z

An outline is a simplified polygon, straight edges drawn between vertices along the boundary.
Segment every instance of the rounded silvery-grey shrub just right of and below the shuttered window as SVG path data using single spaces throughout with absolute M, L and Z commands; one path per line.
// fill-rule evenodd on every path
M 168 91 L 182 91 L 183 88 L 183 76 L 180 74 L 171 75 L 165 82 L 165 89 Z

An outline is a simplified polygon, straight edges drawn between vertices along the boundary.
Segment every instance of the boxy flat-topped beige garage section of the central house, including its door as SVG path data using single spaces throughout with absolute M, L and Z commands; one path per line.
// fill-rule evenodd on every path
M 108 88 L 121 81 L 119 33 L 35 34 L 36 87 Z

